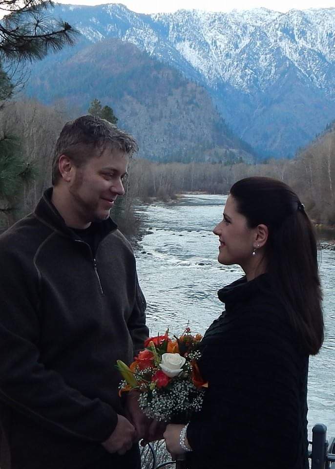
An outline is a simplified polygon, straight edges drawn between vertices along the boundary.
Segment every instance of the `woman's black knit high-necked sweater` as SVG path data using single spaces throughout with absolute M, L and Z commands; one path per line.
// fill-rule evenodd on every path
M 226 311 L 202 341 L 209 382 L 187 437 L 192 469 L 307 469 L 308 356 L 266 274 L 218 293 Z

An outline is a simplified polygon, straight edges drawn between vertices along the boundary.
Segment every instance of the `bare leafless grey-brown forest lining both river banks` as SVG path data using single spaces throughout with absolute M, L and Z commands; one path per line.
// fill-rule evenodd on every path
M 33 210 L 50 186 L 56 139 L 68 120 L 62 109 L 32 100 L 11 100 L 0 111 L 3 135 L 14 131 L 19 155 L 11 173 L 8 159 L 0 158 L 0 222 L 2 227 Z M 7 163 L 7 167 L 6 167 Z M 283 180 L 298 193 L 315 224 L 335 225 L 335 126 L 329 125 L 293 159 L 271 159 L 258 164 L 157 163 L 133 156 L 125 182 L 126 195 L 115 208 L 126 233 L 136 232 L 132 207 L 160 200 L 169 202 L 183 192 L 227 194 L 243 177 L 262 175 Z M 15 188 L 15 191 L 11 189 Z

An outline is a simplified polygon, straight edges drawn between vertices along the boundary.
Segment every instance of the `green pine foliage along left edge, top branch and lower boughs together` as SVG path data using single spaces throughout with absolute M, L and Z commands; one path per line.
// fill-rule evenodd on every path
M 4 60 L 38 60 L 50 50 L 73 44 L 78 31 L 66 21 L 43 16 L 52 6 L 51 0 L 0 0 L 5 14 L 0 20 L 0 102 L 13 93 L 1 67 Z M 7 225 L 15 221 L 27 184 L 34 178 L 33 165 L 23 161 L 19 149 L 17 137 L 0 129 L 0 218 Z

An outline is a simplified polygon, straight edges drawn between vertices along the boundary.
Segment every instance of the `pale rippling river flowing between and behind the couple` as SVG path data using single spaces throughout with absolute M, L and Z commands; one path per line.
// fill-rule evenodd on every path
M 172 205 L 137 207 L 147 230 L 136 258 L 151 334 L 164 333 L 167 326 L 181 334 L 188 321 L 192 331 L 203 334 L 223 309 L 217 290 L 243 275 L 239 266 L 217 262 L 218 238 L 212 229 L 222 218 L 226 199 L 190 194 Z M 310 439 L 315 423 L 324 423 L 328 436 L 335 437 L 335 251 L 322 251 L 320 275 L 326 337 L 310 360 Z

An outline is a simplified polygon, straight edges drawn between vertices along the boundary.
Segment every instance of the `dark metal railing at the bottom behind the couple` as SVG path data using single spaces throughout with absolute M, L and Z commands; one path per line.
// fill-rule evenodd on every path
M 309 442 L 309 458 L 311 459 L 311 469 L 335 469 L 335 437 L 327 440 L 327 427 L 323 424 L 316 424 L 312 429 L 312 441 Z M 164 450 L 163 442 L 158 443 L 156 448 L 148 443 L 142 449 L 142 460 L 146 461 L 145 469 L 163 469 L 175 466 L 176 469 L 184 469 L 184 459 L 167 459 L 158 462 L 157 450 Z

